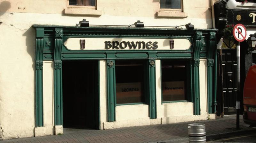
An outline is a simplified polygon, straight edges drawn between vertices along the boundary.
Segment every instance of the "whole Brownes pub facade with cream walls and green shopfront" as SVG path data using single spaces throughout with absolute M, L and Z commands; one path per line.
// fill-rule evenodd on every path
M 0 43 L 10 53 L 2 57 L 12 61 L 0 71 L 2 139 L 215 119 L 217 30 L 208 25 L 210 11 L 207 18 L 190 14 L 192 3 L 180 0 L 175 11 L 160 1 L 149 4 L 154 11 L 121 14 L 129 2 L 111 1 L 122 10 L 84 2 L 89 9 L 58 1 L 65 4 L 50 13 L 25 2 L 20 12 L 10 2 L 2 12 Z M 202 3 L 207 10 L 209 4 Z

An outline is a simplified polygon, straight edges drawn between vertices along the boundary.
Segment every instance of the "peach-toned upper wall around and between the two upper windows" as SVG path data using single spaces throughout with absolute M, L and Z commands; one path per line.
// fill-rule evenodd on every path
M 210 6 L 211 0 L 183 0 L 183 10 L 188 13 L 188 18 L 210 19 Z M 61 14 L 67 7 L 68 0 L 0 0 L 0 12 Z M 96 9 L 102 11 L 102 15 L 155 17 L 156 12 L 160 9 L 160 4 L 159 0 L 97 0 Z

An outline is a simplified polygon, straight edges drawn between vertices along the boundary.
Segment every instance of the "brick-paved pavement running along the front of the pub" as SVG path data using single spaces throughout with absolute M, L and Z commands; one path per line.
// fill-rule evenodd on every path
M 236 116 L 232 115 L 214 120 L 110 130 L 64 128 L 63 135 L 10 139 L 0 143 L 185 143 L 188 142 L 188 124 L 191 123 L 205 124 L 208 141 L 256 133 L 255 127 L 243 122 L 243 116 L 240 116 L 240 130 L 236 130 Z

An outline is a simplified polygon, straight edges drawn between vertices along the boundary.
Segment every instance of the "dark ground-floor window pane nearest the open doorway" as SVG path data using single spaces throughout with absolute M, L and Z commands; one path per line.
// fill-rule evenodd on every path
M 116 61 L 116 103 L 141 103 L 144 100 L 144 62 Z

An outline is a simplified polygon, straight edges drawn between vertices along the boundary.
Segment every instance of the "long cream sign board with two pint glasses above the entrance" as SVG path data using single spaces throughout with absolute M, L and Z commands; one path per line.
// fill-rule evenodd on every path
M 110 45 L 111 47 L 113 47 L 113 43 L 111 43 L 112 41 L 117 41 L 120 44 L 118 45 L 119 49 L 113 49 L 110 46 L 107 46 L 107 50 L 145 50 L 147 48 L 144 47 L 142 44 L 138 44 L 137 42 L 151 42 L 148 44 L 148 46 L 152 49 L 152 47 L 154 46 L 152 43 L 155 43 L 157 45 L 154 46 L 156 47 L 156 50 L 188 50 L 190 48 L 190 46 L 192 45 L 190 43 L 190 41 L 188 39 L 173 39 L 173 49 L 170 49 L 170 39 L 141 39 L 141 38 L 69 38 L 64 45 L 66 46 L 67 49 L 69 50 L 81 50 L 80 49 L 80 39 L 84 39 L 85 40 L 85 44 L 84 44 L 84 49 L 83 50 L 106 50 L 105 49 L 105 41 L 110 41 Z M 126 42 L 125 44 L 121 44 L 121 42 Z M 127 42 L 134 42 L 134 44 L 136 45 L 135 49 L 131 48 L 129 49 L 129 46 L 127 44 Z M 120 45 L 122 45 L 122 47 L 124 49 L 120 48 Z M 146 45 L 146 44 L 145 44 Z M 141 46 L 141 48 L 139 49 L 139 46 Z

